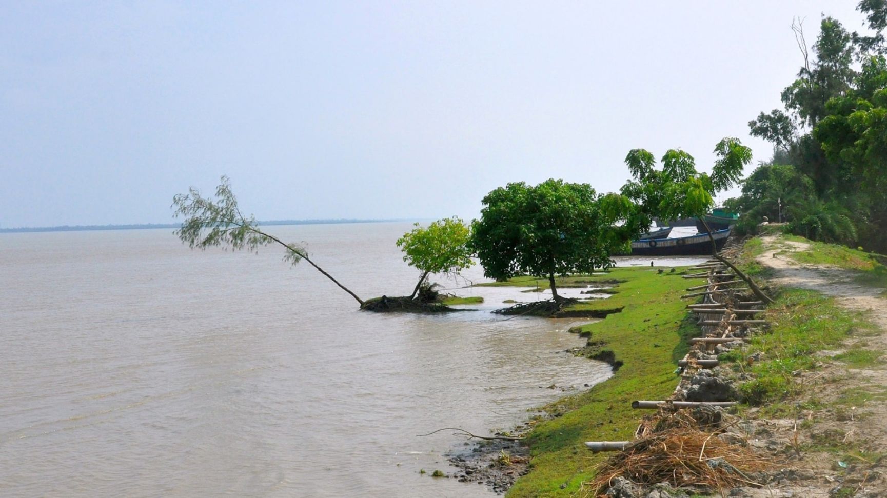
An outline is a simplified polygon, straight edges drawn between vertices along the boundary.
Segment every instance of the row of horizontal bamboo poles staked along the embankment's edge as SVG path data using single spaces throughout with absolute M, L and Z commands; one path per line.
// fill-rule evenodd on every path
M 742 251 L 742 244 L 732 245 L 724 249 L 720 255 L 725 258 L 735 257 Z M 693 268 L 692 273 L 683 278 L 696 279 L 707 278 L 708 283 L 689 287 L 689 293 L 681 296 L 681 299 L 695 299 L 703 297 L 700 304 L 688 305 L 690 313 L 699 317 L 699 325 L 703 329 L 703 337 L 691 338 L 690 352 L 678 362 L 678 366 L 687 374 L 687 369 L 712 368 L 718 366 L 718 360 L 697 358 L 697 354 L 717 346 L 741 340 L 748 342 L 749 338 L 735 337 L 734 333 L 747 329 L 750 325 L 763 325 L 765 320 L 754 318 L 764 310 L 759 309 L 764 303 L 759 300 L 742 300 L 739 296 L 749 288 L 743 280 L 736 279 L 735 274 L 730 273 L 726 265 L 718 260 L 705 261 Z M 703 290 L 704 289 L 704 290 Z M 700 291 L 701 292 L 696 292 Z M 680 388 L 675 388 L 677 392 Z M 736 401 L 632 401 L 632 409 L 695 409 L 700 407 L 730 407 Z M 635 432 L 635 437 L 640 436 L 640 427 Z M 597 453 L 599 451 L 622 451 L 632 441 L 588 441 L 585 446 Z

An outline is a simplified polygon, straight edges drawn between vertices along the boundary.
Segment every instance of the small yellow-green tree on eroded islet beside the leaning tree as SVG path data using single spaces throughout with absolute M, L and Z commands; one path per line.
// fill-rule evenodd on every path
M 429 274 L 458 274 L 474 263 L 467 249 L 471 230 L 458 217 L 443 218 L 424 228 L 419 223 L 413 226 L 414 229 L 397 239 L 404 261 L 422 272 L 410 299 L 416 297 Z

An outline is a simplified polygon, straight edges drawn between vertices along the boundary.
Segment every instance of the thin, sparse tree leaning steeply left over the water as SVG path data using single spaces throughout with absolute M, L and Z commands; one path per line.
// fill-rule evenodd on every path
M 293 266 L 299 261 L 307 261 L 363 306 L 364 301 L 357 297 L 357 294 L 311 261 L 308 251 L 302 245 L 283 242 L 278 237 L 259 229 L 254 216 L 247 217 L 241 214 L 227 176 L 222 176 L 221 183 L 216 187 L 215 197 L 215 200 L 203 197 L 194 187 L 191 187 L 186 194 L 177 194 L 173 197 L 173 216 L 184 217 L 182 228 L 176 230 L 175 234 L 184 244 L 192 249 L 223 246 L 233 250 L 248 251 L 255 251 L 263 245 L 282 245 L 285 249 L 284 261 Z

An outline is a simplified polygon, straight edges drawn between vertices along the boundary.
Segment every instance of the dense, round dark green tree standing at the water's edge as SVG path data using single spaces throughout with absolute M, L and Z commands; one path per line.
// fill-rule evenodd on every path
M 612 265 L 610 253 L 624 245 L 612 225 L 624 208 L 615 198 L 603 202 L 587 183 L 508 183 L 483 198 L 470 245 L 485 276 L 547 277 L 553 299 L 561 303 L 555 276 Z

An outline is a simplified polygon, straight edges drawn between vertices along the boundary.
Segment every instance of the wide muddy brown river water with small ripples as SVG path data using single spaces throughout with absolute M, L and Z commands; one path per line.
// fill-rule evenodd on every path
M 418 278 L 395 246 L 410 223 L 267 228 L 364 298 Z M 563 352 L 588 320 L 490 313 L 536 293 L 377 315 L 280 256 L 171 230 L 0 234 L 0 496 L 491 496 L 428 476 L 463 439 L 417 434 L 510 428 L 610 375 Z

